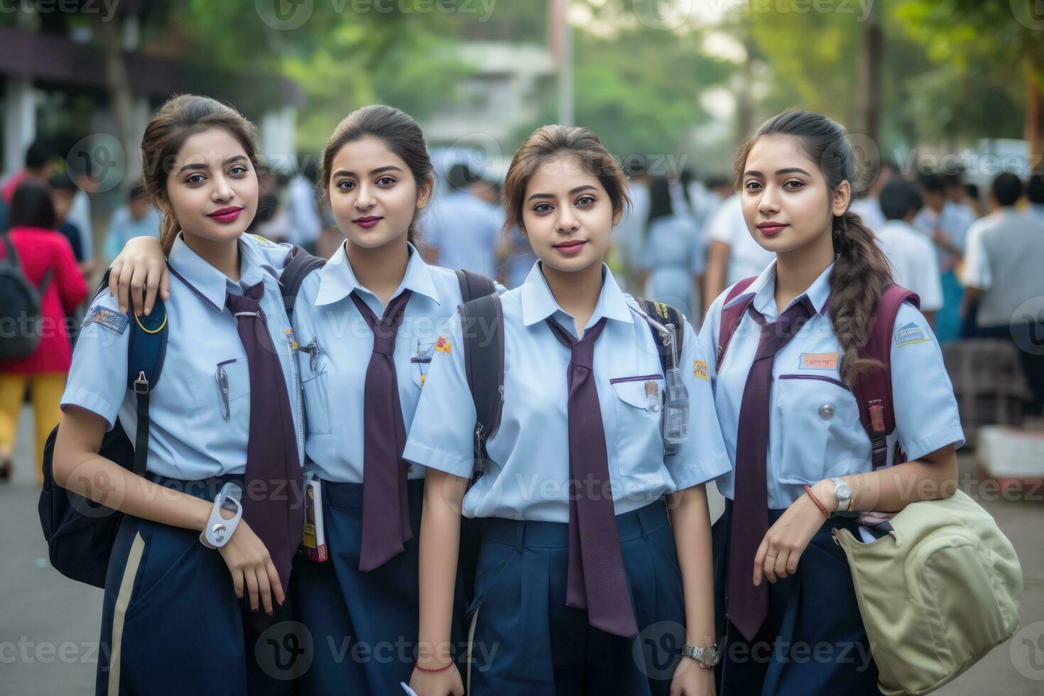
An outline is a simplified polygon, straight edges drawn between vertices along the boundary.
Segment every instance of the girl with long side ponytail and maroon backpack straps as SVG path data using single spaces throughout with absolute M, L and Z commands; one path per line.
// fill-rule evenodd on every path
M 744 143 L 737 176 L 748 229 L 776 259 L 722 293 L 699 335 L 717 356 L 708 374 L 734 464 L 717 481 L 727 502 L 713 530 L 718 693 L 877 694 L 831 529 L 870 541 L 860 512 L 952 495 L 964 443 L 952 386 L 927 321 L 904 304 L 889 349 L 896 428 L 887 465 L 872 471 L 852 387 L 892 274 L 849 211 L 852 147 L 830 119 L 787 112 Z M 722 311 L 738 319 L 731 340 Z

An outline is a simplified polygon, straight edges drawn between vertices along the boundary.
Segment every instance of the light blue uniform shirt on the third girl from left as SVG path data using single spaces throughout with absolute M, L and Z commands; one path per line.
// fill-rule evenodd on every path
M 703 483 L 729 471 L 710 382 L 694 376 L 704 358 L 686 323 L 681 371 L 689 391 L 689 439 L 670 457 L 660 435 L 663 369 L 649 326 L 632 308 L 608 267 L 588 328 L 608 317 L 594 349 L 609 475 L 616 513 L 637 509 L 664 494 Z M 575 335 L 573 318 L 559 307 L 540 263 L 520 287 L 502 297 L 504 401 L 500 425 L 487 440 L 491 461 L 464 500 L 469 518 L 569 521 L 570 351 L 551 333 L 553 316 Z M 465 374 L 459 316 L 443 334 L 406 443 L 410 461 L 455 476 L 471 476 L 475 405 Z M 702 374 L 702 373 L 701 373 Z

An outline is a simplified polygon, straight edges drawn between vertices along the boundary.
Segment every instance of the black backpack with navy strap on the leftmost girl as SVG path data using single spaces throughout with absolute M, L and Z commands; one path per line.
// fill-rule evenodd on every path
M 324 264 L 324 260 L 298 250 L 280 278 L 287 314 L 293 311 L 293 301 L 304 278 Z M 98 293 L 108 290 L 109 271 Z M 97 294 L 95 295 L 97 296 Z M 149 316 L 135 317 L 134 307 L 127 311 L 127 389 L 137 397 L 138 428 L 134 446 L 119 421 L 105 433 L 99 454 L 138 476 L 145 475 L 148 456 L 149 393 L 160 381 L 167 350 L 167 312 L 163 301 L 156 298 Z M 96 587 L 105 586 L 109 557 L 123 514 L 93 500 L 67 490 L 54 482 L 55 426 L 44 447 L 44 486 L 40 491 L 40 525 L 47 539 L 51 566 L 66 577 Z M 99 481 L 99 485 L 104 482 Z

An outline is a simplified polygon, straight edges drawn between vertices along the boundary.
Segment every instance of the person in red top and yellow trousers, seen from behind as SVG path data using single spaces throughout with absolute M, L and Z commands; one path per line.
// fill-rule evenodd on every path
M 15 433 L 26 386 L 32 395 L 37 436 L 37 478 L 47 436 L 62 418 L 60 401 L 72 361 L 67 315 L 87 297 L 87 281 L 76 265 L 72 247 L 54 230 L 54 206 L 47 188 L 23 182 L 10 201 L 7 235 L 18 254 L 22 272 L 40 287 L 50 271 L 41 299 L 40 345 L 27 358 L 0 360 L 0 479 L 10 478 Z M 0 259 L 7 254 L 0 244 Z

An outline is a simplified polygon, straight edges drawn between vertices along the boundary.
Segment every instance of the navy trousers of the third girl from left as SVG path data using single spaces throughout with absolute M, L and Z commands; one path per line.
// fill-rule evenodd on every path
M 667 694 L 685 641 L 685 604 L 667 510 L 659 500 L 617 515 L 639 635 L 588 625 L 566 606 L 569 526 L 481 521 L 468 694 Z

